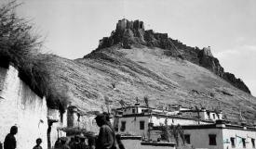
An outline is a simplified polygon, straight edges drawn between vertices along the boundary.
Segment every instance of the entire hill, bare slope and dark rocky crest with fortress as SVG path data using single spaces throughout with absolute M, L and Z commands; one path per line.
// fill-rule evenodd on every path
M 229 118 L 239 118 L 241 109 L 244 118 L 256 116 L 256 98 L 243 81 L 224 72 L 209 47 L 200 50 L 144 31 L 141 21 L 120 20 L 92 53 L 75 60 L 52 55 L 47 67 L 69 105 L 82 112 L 106 110 L 105 98 L 115 108 L 121 99 L 130 105 L 147 96 L 155 107 L 221 109 Z

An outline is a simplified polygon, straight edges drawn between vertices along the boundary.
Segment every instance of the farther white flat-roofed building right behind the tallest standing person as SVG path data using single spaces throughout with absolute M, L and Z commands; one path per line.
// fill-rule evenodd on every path
M 168 125 L 212 124 L 216 119 L 222 119 L 222 113 L 206 109 L 196 111 L 182 106 L 168 106 L 168 110 L 150 107 L 149 110 L 146 106 L 135 104 L 135 106 L 117 108 L 112 111 L 115 115 L 116 132 L 131 132 L 138 135 L 146 135 L 149 126 L 165 124 L 166 119 L 168 119 Z M 200 119 L 198 119 L 198 114 Z

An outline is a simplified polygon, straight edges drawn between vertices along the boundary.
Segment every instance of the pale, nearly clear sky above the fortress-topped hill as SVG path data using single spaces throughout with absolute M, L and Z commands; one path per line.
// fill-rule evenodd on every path
M 0 4 L 9 0 L 1 0 Z M 119 19 L 144 22 L 189 46 L 210 46 L 226 72 L 256 96 L 255 0 L 18 0 L 21 15 L 47 36 L 45 49 L 70 59 L 96 49 Z

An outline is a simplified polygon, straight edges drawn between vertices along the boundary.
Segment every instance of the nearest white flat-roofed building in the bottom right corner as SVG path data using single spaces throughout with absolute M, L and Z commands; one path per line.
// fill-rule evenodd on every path
M 224 120 L 216 120 L 215 124 L 183 125 L 182 128 L 186 143 L 192 144 L 195 148 L 255 148 L 255 126 L 231 125 Z

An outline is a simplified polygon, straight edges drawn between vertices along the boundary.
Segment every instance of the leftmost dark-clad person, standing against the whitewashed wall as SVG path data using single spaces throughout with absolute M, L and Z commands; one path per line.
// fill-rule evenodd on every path
M 10 133 L 7 134 L 5 143 L 4 143 L 4 148 L 5 149 L 15 149 L 16 148 L 16 139 L 14 137 L 15 134 L 18 133 L 18 127 L 17 126 L 12 126 L 10 128 Z

